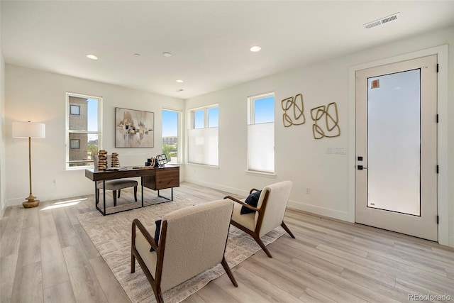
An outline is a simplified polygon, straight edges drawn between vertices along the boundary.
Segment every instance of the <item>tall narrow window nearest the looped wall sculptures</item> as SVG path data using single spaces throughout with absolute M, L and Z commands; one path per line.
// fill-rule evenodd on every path
M 248 98 L 248 171 L 275 172 L 275 94 Z

